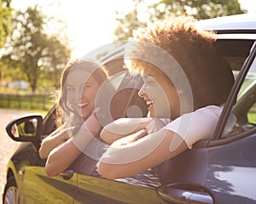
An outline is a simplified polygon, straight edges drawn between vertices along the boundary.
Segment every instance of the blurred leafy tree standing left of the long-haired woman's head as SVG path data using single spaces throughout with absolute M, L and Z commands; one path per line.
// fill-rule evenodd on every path
M 46 17 L 38 6 L 27 8 L 24 13 L 18 11 L 2 58 L 9 69 L 20 69 L 25 74 L 32 92 L 37 90 L 38 81 L 44 84 L 48 80 L 57 87 L 61 70 L 70 56 L 67 44 L 63 45 L 58 37 L 45 33 L 44 20 L 46 21 Z

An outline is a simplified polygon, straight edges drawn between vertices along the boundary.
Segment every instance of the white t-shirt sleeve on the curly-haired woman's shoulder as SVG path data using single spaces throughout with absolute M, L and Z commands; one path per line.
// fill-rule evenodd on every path
M 194 112 L 184 114 L 162 129 L 177 133 L 191 149 L 201 139 L 211 139 L 223 107 L 208 105 Z

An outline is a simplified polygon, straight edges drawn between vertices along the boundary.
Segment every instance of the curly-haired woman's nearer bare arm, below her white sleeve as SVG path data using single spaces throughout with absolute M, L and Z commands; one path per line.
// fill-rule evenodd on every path
M 138 134 L 142 137 L 136 134 L 129 136 L 128 140 L 135 138 L 133 142 L 126 143 L 124 138 L 113 143 L 99 161 L 98 173 L 111 179 L 130 177 L 188 149 L 183 139 L 170 130 L 161 129 L 145 137 L 143 133 Z

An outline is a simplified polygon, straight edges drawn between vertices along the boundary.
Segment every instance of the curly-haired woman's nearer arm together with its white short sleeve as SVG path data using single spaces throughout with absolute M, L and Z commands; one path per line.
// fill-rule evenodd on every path
M 211 139 L 221 112 L 221 107 L 210 105 L 184 114 L 145 137 L 138 132 L 141 138 L 133 134 L 119 139 L 102 156 L 98 172 L 106 178 L 125 178 L 155 167 L 191 148 L 195 142 Z

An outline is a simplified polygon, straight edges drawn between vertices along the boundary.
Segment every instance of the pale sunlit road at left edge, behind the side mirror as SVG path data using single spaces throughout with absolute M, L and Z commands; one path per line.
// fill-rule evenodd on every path
M 0 202 L 2 202 L 4 184 L 6 183 L 6 165 L 9 161 L 9 157 L 15 150 L 15 147 L 19 144 L 10 139 L 5 132 L 6 125 L 17 116 L 22 116 L 32 111 L 17 111 L 17 110 L 5 110 L 0 109 Z

